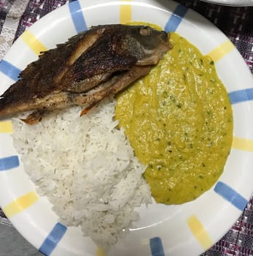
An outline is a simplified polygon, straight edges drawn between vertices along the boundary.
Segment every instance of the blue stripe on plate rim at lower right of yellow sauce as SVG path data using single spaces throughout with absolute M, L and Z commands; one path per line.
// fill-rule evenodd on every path
M 227 184 L 222 181 L 218 181 L 216 186 L 214 187 L 214 191 L 217 192 L 218 195 L 221 195 L 225 200 L 232 203 L 233 206 L 236 206 L 241 211 L 244 211 L 244 208 L 248 201 L 240 195 L 236 190 L 227 186 Z

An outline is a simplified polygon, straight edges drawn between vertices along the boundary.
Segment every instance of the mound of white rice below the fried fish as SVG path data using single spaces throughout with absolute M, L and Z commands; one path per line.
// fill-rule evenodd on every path
M 34 126 L 13 118 L 15 148 L 39 195 L 63 224 L 81 226 L 106 250 L 139 219 L 134 208 L 151 203 L 144 166 L 116 128 L 115 102 L 81 118 L 79 107 L 52 113 Z

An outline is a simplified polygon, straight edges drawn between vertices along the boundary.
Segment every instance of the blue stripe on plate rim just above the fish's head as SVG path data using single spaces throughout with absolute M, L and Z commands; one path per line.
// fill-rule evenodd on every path
M 178 28 L 179 24 L 182 21 L 182 18 L 184 18 L 184 15 L 186 14 L 187 10 L 187 7 L 185 7 L 182 4 L 179 4 L 172 13 L 171 17 L 168 19 L 164 29 L 167 32 L 176 31 L 176 29 Z

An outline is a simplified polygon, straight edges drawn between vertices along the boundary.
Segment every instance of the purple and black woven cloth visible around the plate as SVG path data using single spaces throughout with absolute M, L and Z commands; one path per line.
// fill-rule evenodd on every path
M 0 0 L 0 33 L 7 13 L 15 1 L 17 0 Z M 236 45 L 253 74 L 253 7 L 225 7 L 198 0 L 176 1 L 201 13 L 222 30 Z M 17 26 L 15 39 L 26 27 L 65 3 L 66 0 L 29 1 Z M 1 209 L 0 217 L 6 218 Z M 202 256 L 253 256 L 253 197 L 227 234 Z

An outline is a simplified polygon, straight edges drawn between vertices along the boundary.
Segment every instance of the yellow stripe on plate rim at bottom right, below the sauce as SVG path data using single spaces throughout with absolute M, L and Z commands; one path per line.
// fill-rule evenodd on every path
M 192 231 L 192 234 L 201 244 L 203 249 L 209 249 L 214 243 L 211 241 L 209 233 L 206 232 L 205 227 L 201 224 L 195 215 L 192 215 L 187 219 L 187 223 Z

